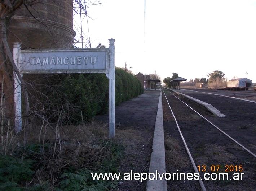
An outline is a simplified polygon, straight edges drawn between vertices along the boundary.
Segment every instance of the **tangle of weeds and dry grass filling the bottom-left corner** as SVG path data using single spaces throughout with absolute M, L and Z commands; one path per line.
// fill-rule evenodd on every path
M 47 137 L 43 143 L 36 143 L 40 129 L 35 127 L 28 136 L 32 141 L 17 144 L 12 156 L 0 155 L 0 190 L 112 190 L 116 180 L 93 181 L 91 177 L 91 172 L 118 172 L 120 168 L 124 146 L 118 139 L 106 138 L 105 126 L 62 127 L 57 142 L 54 131 L 43 128 Z

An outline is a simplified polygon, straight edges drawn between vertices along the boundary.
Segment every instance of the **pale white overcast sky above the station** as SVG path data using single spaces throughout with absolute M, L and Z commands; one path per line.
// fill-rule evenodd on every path
M 146 0 L 145 22 L 144 0 L 100 2 L 87 9 L 91 47 L 114 38 L 116 67 L 188 81 L 247 72 L 256 83 L 256 0 Z M 83 27 L 88 36 L 86 19 Z

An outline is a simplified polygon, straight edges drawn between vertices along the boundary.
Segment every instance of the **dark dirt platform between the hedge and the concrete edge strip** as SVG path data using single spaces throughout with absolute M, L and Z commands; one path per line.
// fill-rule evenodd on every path
M 119 172 L 148 172 L 159 90 L 145 91 L 115 108 L 116 138 L 125 145 Z M 108 115 L 95 120 L 108 122 Z M 120 181 L 117 190 L 146 190 L 146 181 Z

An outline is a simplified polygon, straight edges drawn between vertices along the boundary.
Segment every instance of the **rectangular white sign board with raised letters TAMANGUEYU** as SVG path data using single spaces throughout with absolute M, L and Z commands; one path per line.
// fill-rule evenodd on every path
M 107 73 L 108 49 L 22 50 L 21 73 Z

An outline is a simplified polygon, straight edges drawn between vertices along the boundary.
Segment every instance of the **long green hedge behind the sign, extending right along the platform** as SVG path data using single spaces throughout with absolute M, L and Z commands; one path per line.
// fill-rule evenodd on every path
M 44 107 L 64 113 L 62 123 L 77 124 L 103 114 L 109 107 L 109 80 L 105 74 L 68 74 L 48 91 Z M 121 68 L 115 69 L 115 105 L 143 93 L 136 76 Z M 58 113 L 48 113 L 50 121 L 57 121 Z

